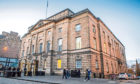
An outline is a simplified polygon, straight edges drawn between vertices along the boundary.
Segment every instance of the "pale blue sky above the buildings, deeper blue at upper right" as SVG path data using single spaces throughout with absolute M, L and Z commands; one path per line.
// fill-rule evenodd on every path
M 47 0 L 0 0 L 0 32 L 16 31 L 21 36 L 28 27 L 46 18 Z M 100 17 L 125 45 L 128 63 L 140 60 L 140 0 L 49 0 L 48 16 L 70 8 L 88 8 Z

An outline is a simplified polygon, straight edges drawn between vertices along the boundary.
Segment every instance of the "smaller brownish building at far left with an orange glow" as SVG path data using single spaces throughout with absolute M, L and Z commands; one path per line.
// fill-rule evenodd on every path
M 21 40 L 18 33 L 11 31 L 2 32 L 0 35 L 0 64 L 12 65 L 18 60 Z M 8 60 L 8 61 L 7 61 Z

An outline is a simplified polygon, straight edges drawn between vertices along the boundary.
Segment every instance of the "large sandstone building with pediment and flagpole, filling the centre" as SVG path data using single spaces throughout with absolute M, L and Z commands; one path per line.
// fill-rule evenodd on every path
M 125 47 L 90 10 L 65 9 L 29 27 L 22 37 L 21 69 L 62 74 L 90 69 L 108 76 L 126 71 Z

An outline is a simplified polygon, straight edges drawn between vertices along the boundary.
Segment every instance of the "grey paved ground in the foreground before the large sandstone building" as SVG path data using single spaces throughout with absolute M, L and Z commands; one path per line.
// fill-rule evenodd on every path
M 62 76 L 22 76 L 15 78 L 0 77 L 0 84 L 140 84 L 140 80 L 109 80 L 91 78 L 85 81 L 84 77 L 62 79 Z

